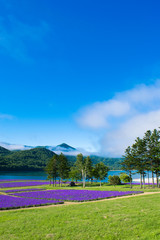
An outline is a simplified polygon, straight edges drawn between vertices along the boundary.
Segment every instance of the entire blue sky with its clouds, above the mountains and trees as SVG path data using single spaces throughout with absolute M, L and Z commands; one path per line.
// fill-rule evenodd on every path
M 159 127 L 159 1 L 0 0 L 0 142 L 121 156 Z

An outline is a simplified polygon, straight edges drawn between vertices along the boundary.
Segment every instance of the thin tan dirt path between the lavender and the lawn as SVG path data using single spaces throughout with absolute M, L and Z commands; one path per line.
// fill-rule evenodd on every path
M 88 202 L 64 202 L 63 204 L 56 204 L 56 205 L 47 205 L 47 206 L 39 206 L 39 207 L 37 206 L 37 207 L 28 207 L 28 208 L 17 208 L 17 209 L 10 209 L 10 210 L 0 210 L 0 213 L 1 212 L 18 211 L 18 210 L 38 209 L 38 208 L 62 207 L 62 206 L 77 205 L 77 204 L 90 204 L 90 203 L 95 203 L 95 202 L 113 201 L 113 200 L 122 199 L 122 198 L 132 198 L 132 197 L 139 197 L 139 196 L 151 195 L 151 194 L 157 194 L 157 193 L 160 194 L 160 192 L 145 192 L 145 193 L 127 195 L 127 196 L 122 196 L 122 197 L 105 198 L 105 199 L 88 201 Z

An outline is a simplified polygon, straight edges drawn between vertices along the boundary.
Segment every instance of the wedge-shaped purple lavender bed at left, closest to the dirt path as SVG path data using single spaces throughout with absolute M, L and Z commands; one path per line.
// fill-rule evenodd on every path
M 60 204 L 62 201 L 18 198 L 8 195 L 0 195 L 0 209 L 10 209 L 19 207 L 40 206 L 48 204 Z

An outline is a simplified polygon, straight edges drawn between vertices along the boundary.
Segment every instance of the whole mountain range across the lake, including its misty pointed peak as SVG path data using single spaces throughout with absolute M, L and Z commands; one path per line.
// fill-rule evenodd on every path
M 14 144 L 7 144 L 7 146 L 12 146 L 11 149 L 13 149 L 13 145 Z M 25 146 L 26 145 L 23 146 L 23 149 Z M 28 147 L 29 146 L 26 146 L 26 148 Z M 84 150 L 73 148 L 66 143 L 62 143 L 56 147 L 31 147 L 29 150 L 20 150 L 16 148 L 10 151 L 4 147 L 0 147 L 0 170 L 44 170 L 48 160 L 54 156 L 54 154 L 60 154 L 61 152 L 67 157 L 70 165 L 75 163 L 76 155 L 82 153 L 84 156 L 90 155 L 93 164 L 103 162 L 110 170 L 121 169 L 121 158 L 101 157 L 83 151 Z

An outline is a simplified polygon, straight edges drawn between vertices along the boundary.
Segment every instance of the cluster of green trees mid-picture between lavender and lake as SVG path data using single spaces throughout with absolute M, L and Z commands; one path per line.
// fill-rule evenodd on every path
M 84 157 L 81 153 L 77 155 L 73 166 L 69 165 L 66 156 L 61 153 L 60 155 L 54 155 L 45 168 L 50 184 L 51 179 L 53 180 L 53 186 L 56 186 L 57 179 L 62 186 L 63 180 L 70 178 L 76 182 L 82 180 L 84 188 L 86 180 L 92 182 L 94 178 L 100 181 L 101 186 L 101 181 L 107 177 L 108 171 L 109 168 L 103 162 L 93 166 L 91 158 L 89 156 Z

